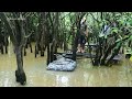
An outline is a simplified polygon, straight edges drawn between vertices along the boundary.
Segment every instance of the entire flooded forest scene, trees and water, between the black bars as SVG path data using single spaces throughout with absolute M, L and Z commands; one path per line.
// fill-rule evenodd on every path
M 0 87 L 132 87 L 132 12 L 0 12 Z

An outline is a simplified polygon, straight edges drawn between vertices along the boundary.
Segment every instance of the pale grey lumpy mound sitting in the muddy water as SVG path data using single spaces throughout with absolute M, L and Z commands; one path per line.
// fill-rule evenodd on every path
M 48 64 L 47 70 L 73 72 L 77 64 L 73 59 L 61 57 Z

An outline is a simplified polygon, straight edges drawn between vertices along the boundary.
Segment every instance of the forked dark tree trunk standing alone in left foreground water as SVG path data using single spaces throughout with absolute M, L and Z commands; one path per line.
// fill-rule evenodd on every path
M 12 13 L 14 19 L 18 19 L 21 13 Z M 23 30 L 23 21 L 21 20 L 8 20 L 6 13 L 0 12 L 0 19 L 4 22 L 6 28 L 9 32 L 9 35 L 11 37 L 11 41 L 15 47 L 15 56 L 16 56 L 16 64 L 18 69 L 15 70 L 15 77 L 16 81 L 21 82 L 21 85 L 24 85 L 26 81 L 26 76 L 23 70 L 23 56 L 22 56 L 22 47 L 24 45 L 25 41 L 25 32 Z M 14 22 L 14 24 L 12 23 Z M 14 26 L 14 30 L 12 29 Z

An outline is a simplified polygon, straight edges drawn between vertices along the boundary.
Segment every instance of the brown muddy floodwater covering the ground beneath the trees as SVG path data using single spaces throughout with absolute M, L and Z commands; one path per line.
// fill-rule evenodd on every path
M 132 87 L 132 62 L 124 59 L 112 67 L 94 67 L 89 59 L 78 59 L 74 72 L 46 70 L 46 55 L 34 57 L 26 50 L 24 70 L 26 85 L 15 81 L 16 61 L 12 46 L 0 54 L 0 87 Z

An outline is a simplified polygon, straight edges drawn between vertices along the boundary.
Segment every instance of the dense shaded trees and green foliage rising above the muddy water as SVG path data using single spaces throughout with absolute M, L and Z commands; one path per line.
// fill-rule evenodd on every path
M 77 53 L 84 18 L 88 32 L 85 53 Z M 112 66 L 122 59 L 122 54 L 131 58 L 131 12 L 0 12 L 0 52 L 8 53 L 10 37 L 16 57 L 16 81 L 24 85 L 26 48 L 30 47 L 36 58 L 47 53 L 46 65 L 55 61 L 57 54 L 65 54 L 64 57 L 73 61 L 80 56 L 90 58 L 94 66 Z M 58 47 L 64 53 L 59 53 Z

